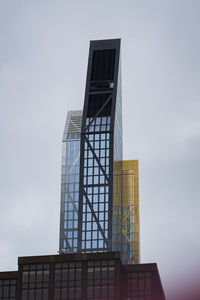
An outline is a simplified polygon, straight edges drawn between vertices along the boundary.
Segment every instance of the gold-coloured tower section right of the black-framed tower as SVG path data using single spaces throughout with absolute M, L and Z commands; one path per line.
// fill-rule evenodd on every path
M 138 160 L 115 162 L 114 169 L 117 172 L 114 172 L 113 245 L 118 245 L 116 250 L 121 251 L 124 263 L 137 264 L 140 262 Z

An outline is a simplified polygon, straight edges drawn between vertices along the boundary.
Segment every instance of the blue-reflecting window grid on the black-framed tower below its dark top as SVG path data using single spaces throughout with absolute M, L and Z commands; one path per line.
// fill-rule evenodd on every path
M 82 252 L 108 247 L 110 117 L 87 118 L 84 141 Z

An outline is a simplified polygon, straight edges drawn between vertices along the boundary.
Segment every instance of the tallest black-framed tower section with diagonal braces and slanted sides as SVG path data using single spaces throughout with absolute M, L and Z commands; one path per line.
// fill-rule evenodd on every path
M 113 249 L 113 161 L 115 156 L 122 160 L 119 57 L 119 39 L 90 44 L 81 129 L 79 252 Z

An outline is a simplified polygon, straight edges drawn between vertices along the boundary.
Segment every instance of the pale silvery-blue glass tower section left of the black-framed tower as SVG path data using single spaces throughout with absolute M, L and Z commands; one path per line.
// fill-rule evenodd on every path
M 77 252 L 82 111 L 69 111 L 62 140 L 60 253 Z

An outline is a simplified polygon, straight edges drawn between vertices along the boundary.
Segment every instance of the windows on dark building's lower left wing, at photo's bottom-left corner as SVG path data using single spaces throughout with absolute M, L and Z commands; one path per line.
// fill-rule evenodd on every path
M 0 279 L 0 299 L 16 299 L 16 279 Z

